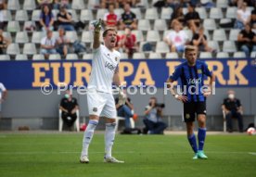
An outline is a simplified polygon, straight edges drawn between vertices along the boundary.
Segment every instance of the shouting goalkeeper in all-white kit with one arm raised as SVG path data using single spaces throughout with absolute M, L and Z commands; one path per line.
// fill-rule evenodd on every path
M 81 163 L 89 163 L 88 147 L 93 138 L 99 118 L 106 120 L 105 156 L 104 162 L 123 163 L 111 155 L 115 139 L 117 111 L 112 95 L 112 82 L 121 86 L 118 65 L 121 54 L 114 50 L 117 41 L 117 32 L 107 29 L 103 32 L 104 45 L 100 44 L 101 19 L 95 23 L 92 72 L 88 82 L 87 104 L 89 110 L 88 126 L 83 134 L 83 149 Z M 120 104 L 125 103 L 122 88 L 119 89 Z

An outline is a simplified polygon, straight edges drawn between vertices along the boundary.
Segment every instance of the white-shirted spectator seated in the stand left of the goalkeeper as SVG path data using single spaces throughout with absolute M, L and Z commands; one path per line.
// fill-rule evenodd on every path
M 53 32 L 47 31 L 46 36 L 41 40 L 41 54 L 48 58 L 50 54 L 57 54 L 56 40 L 53 38 Z

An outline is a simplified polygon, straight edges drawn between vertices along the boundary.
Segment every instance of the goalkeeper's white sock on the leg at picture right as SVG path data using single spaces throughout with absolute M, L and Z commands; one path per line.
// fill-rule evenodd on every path
M 115 140 L 116 123 L 106 123 L 105 132 L 105 158 L 112 157 L 112 146 Z

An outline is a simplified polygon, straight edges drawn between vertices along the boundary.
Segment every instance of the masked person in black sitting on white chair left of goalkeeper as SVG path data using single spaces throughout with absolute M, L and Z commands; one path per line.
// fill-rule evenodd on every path
M 65 92 L 64 98 L 61 99 L 59 108 L 62 111 L 62 120 L 71 130 L 73 123 L 77 119 L 76 111 L 78 110 L 78 104 L 76 98 L 72 97 L 69 90 Z

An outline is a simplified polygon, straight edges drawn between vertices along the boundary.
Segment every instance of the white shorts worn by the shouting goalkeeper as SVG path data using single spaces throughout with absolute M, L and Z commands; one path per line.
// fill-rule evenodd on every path
M 89 115 L 116 119 L 117 110 L 112 94 L 89 89 L 87 93 Z

